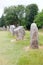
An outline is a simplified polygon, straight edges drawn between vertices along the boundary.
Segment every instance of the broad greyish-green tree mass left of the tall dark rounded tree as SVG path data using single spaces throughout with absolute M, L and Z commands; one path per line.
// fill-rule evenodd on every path
M 18 6 L 11 6 L 9 8 L 4 9 L 4 15 L 6 19 L 6 24 L 15 24 L 22 25 L 24 22 L 23 18 L 24 14 L 24 6 L 18 5 Z M 23 24 L 24 25 L 24 24 Z

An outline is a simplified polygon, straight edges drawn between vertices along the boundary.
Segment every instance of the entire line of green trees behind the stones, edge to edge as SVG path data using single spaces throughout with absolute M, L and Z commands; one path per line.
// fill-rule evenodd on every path
M 30 29 L 30 25 L 35 22 L 38 28 L 41 28 L 43 26 L 43 10 L 40 13 L 38 11 L 36 4 L 5 7 L 0 18 L 0 26 L 20 25 Z

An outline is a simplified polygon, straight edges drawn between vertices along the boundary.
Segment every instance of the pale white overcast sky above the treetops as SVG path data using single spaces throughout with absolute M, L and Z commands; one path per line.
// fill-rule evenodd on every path
M 37 4 L 39 11 L 43 9 L 43 0 L 0 0 L 0 17 L 3 13 L 4 7 L 8 7 L 11 5 L 29 5 L 29 4 Z

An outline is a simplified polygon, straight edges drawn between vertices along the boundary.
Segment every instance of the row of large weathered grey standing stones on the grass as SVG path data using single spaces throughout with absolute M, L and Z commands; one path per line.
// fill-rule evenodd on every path
M 16 36 L 16 40 L 23 40 L 25 36 L 25 29 L 23 26 L 18 26 L 17 28 L 14 25 L 10 25 L 7 27 L 7 30 L 11 32 L 11 34 Z M 37 49 L 38 47 L 38 28 L 35 23 L 31 24 L 30 27 L 30 48 Z

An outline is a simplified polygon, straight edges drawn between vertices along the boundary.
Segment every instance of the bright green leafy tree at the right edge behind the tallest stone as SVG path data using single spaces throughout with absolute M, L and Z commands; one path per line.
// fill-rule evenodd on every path
M 43 11 L 36 15 L 34 22 L 37 24 L 38 28 L 43 27 Z

